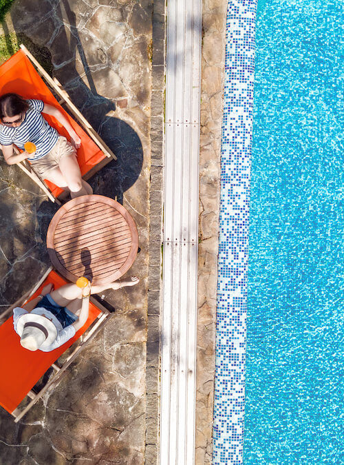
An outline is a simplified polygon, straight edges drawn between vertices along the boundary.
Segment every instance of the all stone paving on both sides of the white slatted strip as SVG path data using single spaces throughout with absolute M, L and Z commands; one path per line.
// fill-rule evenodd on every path
M 219 161 L 226 0 L 203 1 L 196 464 L 211 463 Z M 55 391 L 15 425 L 0 409 L 0 463 L 158 463 L 164 0 L 17 0 L 2 25 L 45 65 L 118 156 L 92 178 L 136 220 L 138 287 L 107 291 L 111 317 Z M 0 34 L 1 34 L 0 29 Z M 50 58 L 51 57 L 51 58 Z M 50 65 L 52 63 L 52 67 Z M 0 305 L 49 266 L 56 207 L 0 160 Z

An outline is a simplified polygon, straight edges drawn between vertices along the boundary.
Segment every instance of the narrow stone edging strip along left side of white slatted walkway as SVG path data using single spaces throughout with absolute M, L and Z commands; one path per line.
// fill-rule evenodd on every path
M 165 87 L 164 0 L 153 2 L 151 42 L 151 183 L 149 185 L 149 268 L 144 463 L 157 465 L 160 421 L 160 311 L 162 300 L 162 186 Z

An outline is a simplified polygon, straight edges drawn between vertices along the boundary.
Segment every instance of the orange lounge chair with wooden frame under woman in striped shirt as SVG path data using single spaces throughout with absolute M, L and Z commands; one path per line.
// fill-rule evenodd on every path
M 49 85 L 54 94 L 58 96 L 60 99 L 59 101 L 55 99 L 52 91 L 47 85 Z M 78 149 L 78 164 L 84 179 L 90 178 L 112 159 L 117 159 L 75 105 L 73 105 L 67 92 L 63 90 L 62 85 L 57 79 L 52 79 L 49 74 L 43 70 L 38 61 L 28 52 L 24 45 L 21 45 L 21 50 L 0 66 L 0 95 L 8 92 L 17 93 L 25 99 L 43 100 L 45 103 L 57 107 L 58 110 L 65 114 L 76 134 L 78 134 L 81 139 L 81 146 Z M 61 107 L 61 104 L 67 107 L 78 123 L 69 116 L 63 107 Z M 44 118 L 52 127 L 55 127 L 59 134 L 67 137 L 69 140 L 69 134 L 67 134 L 65 128 L 61 126 L 53 116 L 44 114 Z M 48 180 L 42 180 L 38 174 L 34 172 L 34 169 L 28 161 L 17 163 L 17 165 L 44 190 L 45 194 L 47 194 L 53 202 L 62 194 L 63 189 L 50 183 Z M 57 203 L 60 202 L 57 201 Z

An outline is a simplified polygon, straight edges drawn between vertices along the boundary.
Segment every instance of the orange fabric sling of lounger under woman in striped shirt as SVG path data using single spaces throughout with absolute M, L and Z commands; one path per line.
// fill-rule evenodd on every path
M 43 100 L 44 103 L 58 107 L 58 110 L 66 116 L 74 131 L 81 139 L 81 147 L 78 149 L 78 163 L 82 175 L 89 172 L 92 167 L 105 158 L 105 154 L 92 141 L 92 138 L 59 105 L 49 87 L 47 87 L 41 76 L 39 76 L 39 73 L 23 50 L 19 50 L 19 52 L 12 55 L 10 59 L 0 66 L 0 95 L 7 94 L 8 92 L 19 94 L 24 99 Z M 55 127 L 61 136 L 65 136 L 69 140 L 69 134 L 53 116 L 45 114 L 44 118 L 52 127 Z M 49 181 L 46 181 L 46 183 L 55 197 L 63 192 L 63 189 L 56 187 Z

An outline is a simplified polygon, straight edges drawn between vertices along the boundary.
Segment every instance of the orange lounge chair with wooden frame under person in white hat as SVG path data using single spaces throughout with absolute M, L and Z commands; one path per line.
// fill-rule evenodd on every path
M 39 296 L 43 286 L 52 283 L 54 288 L 57 289 L 65 284 L 64 278 L 62 278 L 56 271 L 52 271 L 50 268 L 47 270 L 40 282 L 32 289 L 29 293 L 29 298 L 25 300 L 25 297 L 16 302 L 10 309 L 8 309 L 3 315 L 7 316 L 8 313 L 12 312 L 14 307 L 20 307 L 24 302 L 28 302 Z M 19 335 L 14 331 L 13 328 L 13 317 L 11 316 L 3 322 L 0 326 L 0 405 L 3 406 L 11 415 L 14 416 L 14 422 L 19 422 L 21 417 L 27 413 L 30 408 L 39 400 L 39 398 L 47 391 L 47 389 L 56 383 L 61 377 L 63 371 L 72 363 L 76 355 L 85 347 L 86 343 L 91 340 L 97 331 L 103 326 L 106 318 L 109 316 L 109 311 L 99 304 L 94 298 L 90 298 L 89 302 L 89 318 L 85 325 L 77 331 L 74 338 L 67 341 L 61 347 L 58 347 L 51 352 L 30 352 L 23 349 L 19 342 Z M 87 335 L 83 336 L 82 342 L 78 344 L 76 349 L 68 355 L 67 360 L 60 367 L 56 360 L 67 350 L 72 344 L 87 332 Z M 34 385 L 39 382 L 44 373 L 52 366 L 54 369 L 54 375 L 45 384 L 43 389 L 39 393 L 35 393 L 33 390 Z M 19 404 L 25 399 L 26 396 L 31 398 L 29 404 L 22 409 L 19 408 Z

